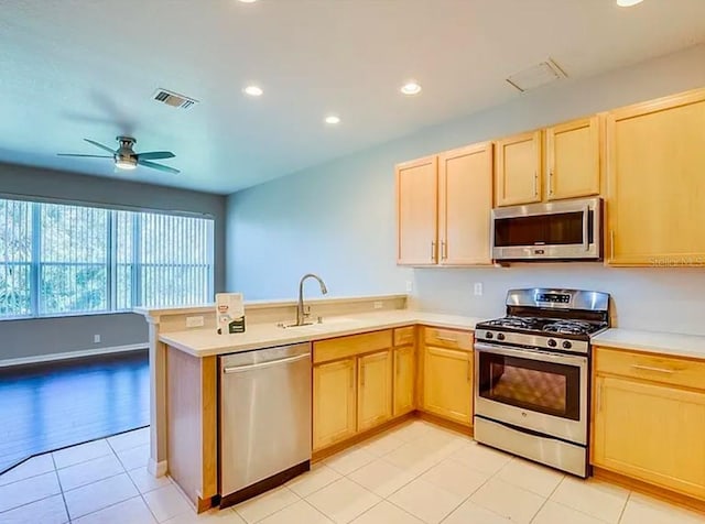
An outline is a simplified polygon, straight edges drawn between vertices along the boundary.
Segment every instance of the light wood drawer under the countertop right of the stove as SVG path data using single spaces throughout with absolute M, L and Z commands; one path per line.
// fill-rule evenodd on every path
M 618 349 L 595 348 L 595 370 L 705 390 L 705 362 Z

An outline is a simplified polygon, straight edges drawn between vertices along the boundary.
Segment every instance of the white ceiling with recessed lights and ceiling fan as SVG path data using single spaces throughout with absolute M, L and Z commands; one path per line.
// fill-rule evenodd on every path
M 0 0 L 0 161 L 228 194 L 519 97 L 549 56 L 579 78 L 703 41 L 705 0 Z M 182 173 L 55 155 L 117 134 Z

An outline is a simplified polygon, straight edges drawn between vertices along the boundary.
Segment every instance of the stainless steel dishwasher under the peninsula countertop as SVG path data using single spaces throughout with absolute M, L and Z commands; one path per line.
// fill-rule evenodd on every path
M 220 506 L 311 468 L 311 345 L 220 360 Z

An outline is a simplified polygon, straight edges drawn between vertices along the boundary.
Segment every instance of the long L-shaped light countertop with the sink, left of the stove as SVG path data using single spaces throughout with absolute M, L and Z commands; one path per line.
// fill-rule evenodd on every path
M 159 339 L 194 357 L 235 353 L 250 349 L 308 342 L 324 338 L 343 337 L 377 329 L 394 328 L 411 324 L 475 329 L 484 319 L 410 309 L 347 315 L 324 318 L 323 324 L 283 329 L 274 324 L 246 325 L 242 334 L 218 335 L 210 329 L 188 329 L 160 335 Z

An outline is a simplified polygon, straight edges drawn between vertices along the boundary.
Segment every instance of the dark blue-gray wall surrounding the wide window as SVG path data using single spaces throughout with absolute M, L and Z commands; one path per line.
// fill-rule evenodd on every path
M 225 290 L 224 196 L 11 164 L 0 164 L 0 195 L 212 215 L 216 237 L 215 290 Z M 100 343 L 94 343 L 94 335 L 100 335 Z M 144 318 L 129 313 L 0 320 L 0 361 L 147 345 L 147 337 Z

